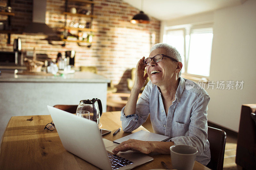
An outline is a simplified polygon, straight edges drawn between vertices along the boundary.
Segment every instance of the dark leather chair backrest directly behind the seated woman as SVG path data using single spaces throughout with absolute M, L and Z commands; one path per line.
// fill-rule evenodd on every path
M 222 170 L 224 162 L 224 152 L 226 145 L 226 132 L 221 129 L 208 126 L 208 141 L 210 143 L 211 160 L 207 165 L 213 170 Z

